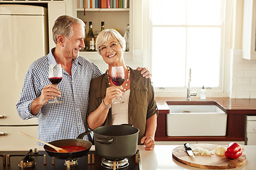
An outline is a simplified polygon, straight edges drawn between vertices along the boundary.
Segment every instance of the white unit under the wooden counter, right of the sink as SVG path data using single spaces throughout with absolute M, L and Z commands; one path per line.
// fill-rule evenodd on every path
M 256 115 L 246 116 L 245 145 L 256 145 Z

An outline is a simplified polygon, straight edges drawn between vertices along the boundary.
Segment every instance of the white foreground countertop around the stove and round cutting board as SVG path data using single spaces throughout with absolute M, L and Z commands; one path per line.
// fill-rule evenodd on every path
M 37 148 L 38 150 L 44 150 L 42 146 L 1 146 L 0 151 L 18 151 L 18 150 L 28 150 Z M 146 151 L 144 146 L 139 145 L 138 149 L 140 152 L 142 169 L 143 170 L 163 170 L 163 169 L 176 169 L 176 170 L 198 170 L 198 168 L 193 168 L 185 164 L 181 164 L 172 158 L 172 150 L 178 147 L 178 145 L 156 145 L 154 150 Z M 93 145 L 92 150 L 95 149 Z M 245 155 L 247 161 L 245 165 L 240 166 L 234 170 L 252 170 L 256 167 L 256 145 L 245 145 Z

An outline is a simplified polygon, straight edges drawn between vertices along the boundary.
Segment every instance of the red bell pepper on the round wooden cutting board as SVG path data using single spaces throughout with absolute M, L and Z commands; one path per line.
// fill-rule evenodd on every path
M 225 152 L 225 157 L 231 158 L 231 159 L 237 159 L 241 155 L 242 155 L 242 148 L 240 147 L 240 145 L 238 143 L 231 142 L 227 147 L 227 150 Z

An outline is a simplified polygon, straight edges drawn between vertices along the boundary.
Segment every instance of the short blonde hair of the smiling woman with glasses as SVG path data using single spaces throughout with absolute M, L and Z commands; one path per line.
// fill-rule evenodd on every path
M 96 50 L 100 54 L 100 46 L 107 42 L 107 40 L 110 40 L 111 37 L 114 37 L 120 42 L 120 45 L 122 46 L 122 50 L 125 51 L 126 42 L 125 39 L 122 37 L 122 35 L 114 29 L 105 29 L 102 30 L 99 35 L 97 35 L 96 39 Z M 100 54 L 101 55 L 101 54 Z

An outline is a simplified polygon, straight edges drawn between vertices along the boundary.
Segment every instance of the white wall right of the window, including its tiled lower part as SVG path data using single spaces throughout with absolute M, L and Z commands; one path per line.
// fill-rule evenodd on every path
M 230 98 L 256 98 L 256 60 L 242 58 L 243 1 L 235 1 L 230 47 Z

